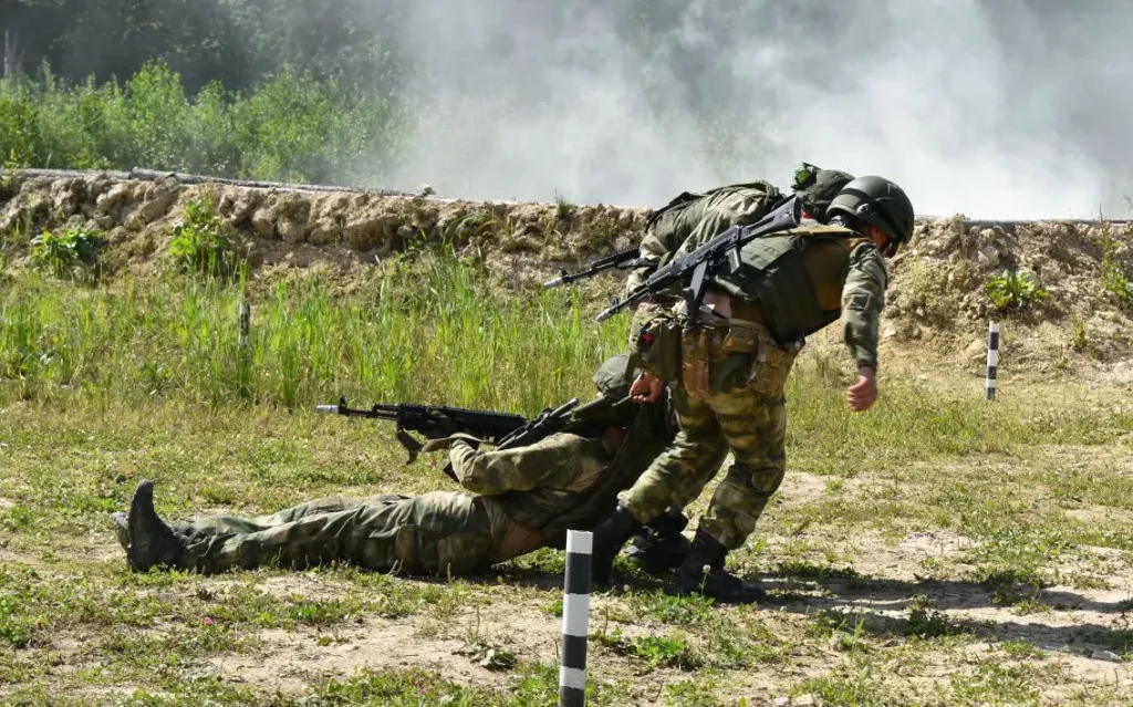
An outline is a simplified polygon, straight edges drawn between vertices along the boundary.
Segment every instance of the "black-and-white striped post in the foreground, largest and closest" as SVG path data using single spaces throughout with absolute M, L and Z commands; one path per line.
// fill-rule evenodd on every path
M 563 584 L 563 650 L 559 666 L 559 707 L 586 704 L 586 640 L 590 633 L 590 557 L 594 534 L 566 531 Z

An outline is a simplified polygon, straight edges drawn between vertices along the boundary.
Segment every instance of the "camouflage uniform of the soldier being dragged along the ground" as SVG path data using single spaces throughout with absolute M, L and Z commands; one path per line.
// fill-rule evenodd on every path
M 598 508 L 603 499 L 596 494 L 610 477 L 620 483 L 615 492 L 625 488 L 672 440 L 663 424 L 666 404 L 639 410 L 617 446 L 559 433 L 523 448 L 480 451 L 453 437 L 450 463 L 465 488 L 482 494 L 476 497 L 454 492 L 332 496 L 272 516 L 203 518 L 174 528 L 188 538 L 189 567 L 205 572 L 327 562 L 410 574 L 475 572 L 533 548 L 504 545 L 514 529 L 530 537 L 568 516 L 580 528 L 599 521 L 608 509 Z M 623 461 L 615 461 L 615 453 Z M 627 469 L 627 463 L 636 466 Z M 613 502 L 611 493 L 611 508 Z M 582 505 L 594 508 L 580 513 Z M 537 546 L 547 542 L 555 540 L 535 538 Z

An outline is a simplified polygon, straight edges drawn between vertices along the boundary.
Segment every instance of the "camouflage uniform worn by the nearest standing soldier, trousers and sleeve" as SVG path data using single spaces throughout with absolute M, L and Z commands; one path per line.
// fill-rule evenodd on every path
M 704 232 L 702 237 L 713 235 Z M 830 320 L 841 316 L 858 365 L 876 368 L 886 288 L 881 254 L 872 242 L 841 227 L 811 222 L 783 233 L 795 235 L 806 239 L 802 262 L 818 307 Z M 718 284 L 706 303 L 715 301 L 731 312 L 718 323 L 683 332 L 682 375 L 671 381 L 681 432 L 622 499 L 633 518 L 648 522 L 666 506 L 697 497 L 731 450 L 735 461 L 700 528 L 726 548 L 735 548 L 751 534 L 783 480 L 783 389 L 802 341 L 776 341 L 759 301 L 744 300 L 743 292 L 734 289 L 731 298 L 721 297 L 729 288 Z M 636 333 L 631 340 L 637 341 Z

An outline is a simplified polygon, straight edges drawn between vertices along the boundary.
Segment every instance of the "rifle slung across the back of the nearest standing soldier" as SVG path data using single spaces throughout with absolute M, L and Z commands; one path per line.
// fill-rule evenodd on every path
M 799 225 L 802 220 L 802 201 L 790 198 L 777 208 L 750 225 L 733 225 L 723 233 L 715 236 L 700 245 L 696 250 L 674 257 L 667 264 L 655 270 L 645 282 L 615 301 L 595 317 L 604 322 L 622 309 L 659 295 L 676 284 L 688 281 L 682 295 L 688 305 L 690 316 L 698 316 L 704 303 L 706 279 L 723 265 L 727 264 L 732 272 L 740 267 L 740 248 L 753 240 L 776 231 L 785 231 Z

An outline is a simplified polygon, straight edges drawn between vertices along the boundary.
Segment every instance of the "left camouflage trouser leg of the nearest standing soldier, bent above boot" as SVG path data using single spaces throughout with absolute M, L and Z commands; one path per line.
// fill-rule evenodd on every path
M 699 496 L 727 455 L 727 442 L 712 408 L 689 398 L 680 386 L 673 390 L 673 408 L 680 425 L 673 444 L 621 494 L 622 504 L 640 522 Z

